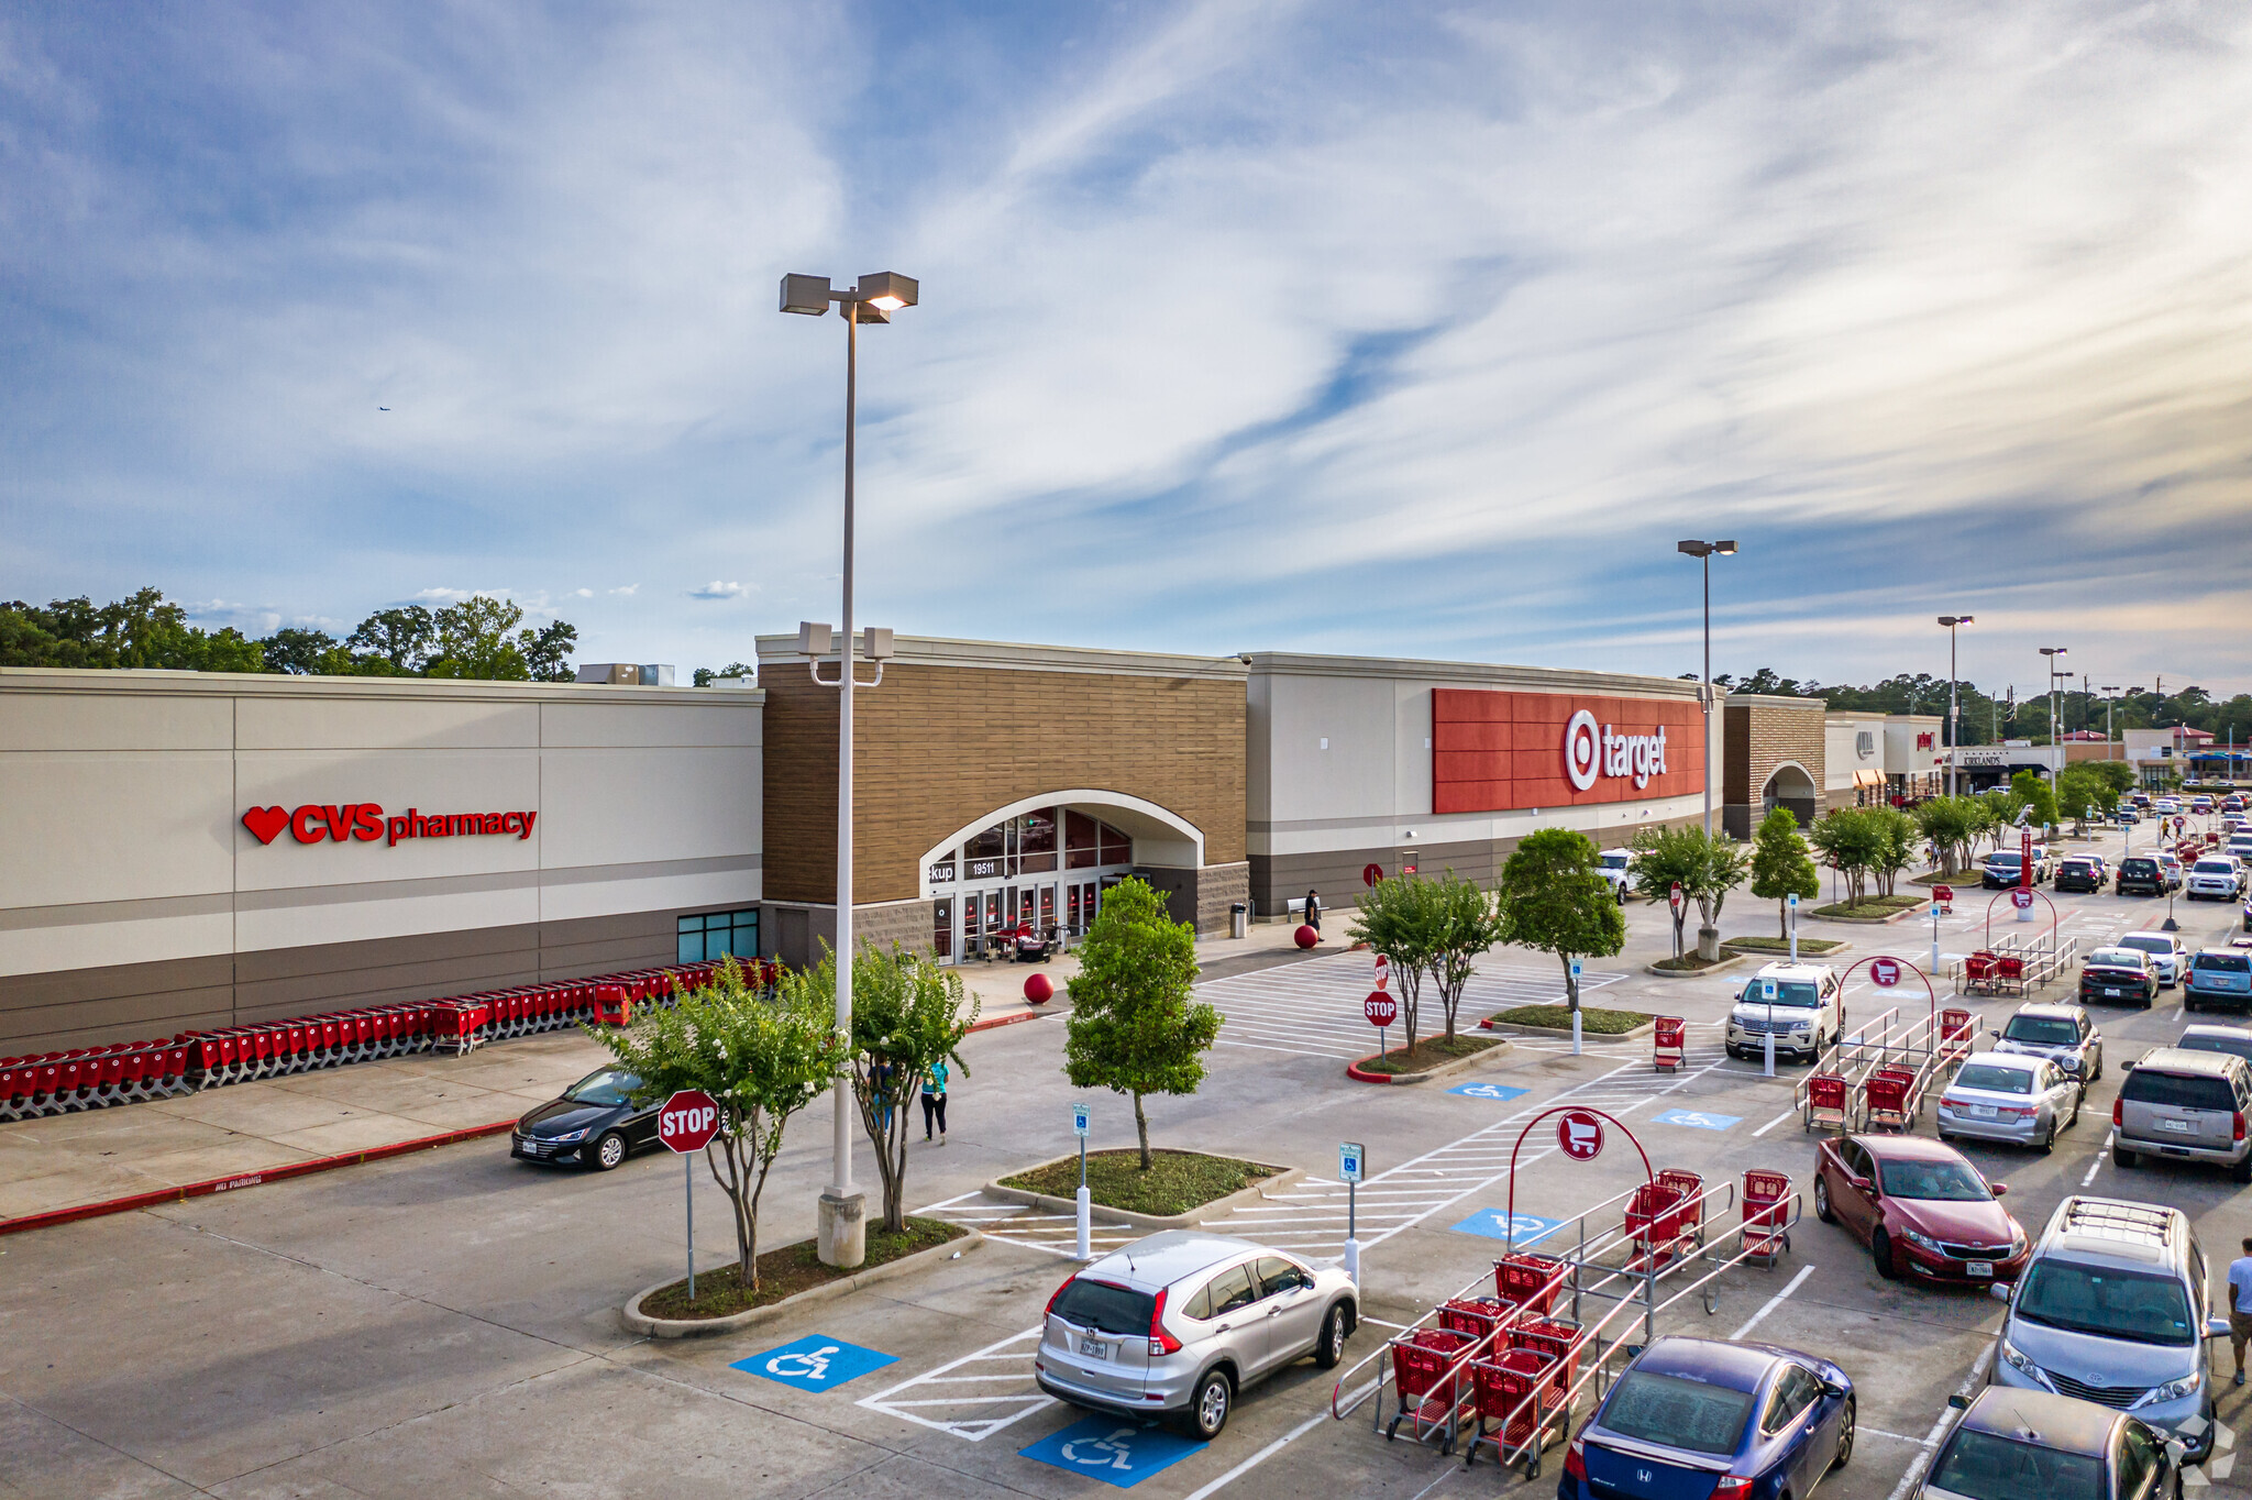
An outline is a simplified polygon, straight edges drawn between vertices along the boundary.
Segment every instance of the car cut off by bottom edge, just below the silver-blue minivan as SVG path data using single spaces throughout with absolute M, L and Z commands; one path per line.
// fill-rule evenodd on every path
M 2045 1390 L 1989 1385 L 1939 1439 L 1916 1500 L 2175 1500 L 2180 1466 L 2139 1417 Z

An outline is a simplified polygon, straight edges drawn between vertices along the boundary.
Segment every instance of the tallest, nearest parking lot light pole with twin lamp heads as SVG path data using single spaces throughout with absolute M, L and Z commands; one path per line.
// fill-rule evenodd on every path
M 820 687 L 838 689 L 838 1036 L 851 1045 L 851 694 L 854 687 L 883 682 L 883 662 L 892 655 L 892 633 L 869 631 L 867 655 L 876 662 L 876 682 L 858 682 L 854 671 L 851 628 L 851 554 L 854 554 L 854 437 L 860 401 L 860 324 L 892 322 L 892 313 L 914 306 L 921 288 L 912 277 L 881 270 L 860 277 L 851 291 L 831 291 L 829 277 L 781 277 L 781 311 L 820 318 L 835 302 L 844 315 L 844 642 L 838 646 L 838 678 L 822 680 L 820 658 L 829 655 L 829 626 L 799 624 L 797 651 L 808 660 Z M 820 1200 L 817 1255 L 824 1266 L 851 1270 L 867 1259 L 867 1194 L 851 1180 L 851 1131 L 858 1106 L 851 1079 L 838 1079 L 831 1106 L 831 1180 Z

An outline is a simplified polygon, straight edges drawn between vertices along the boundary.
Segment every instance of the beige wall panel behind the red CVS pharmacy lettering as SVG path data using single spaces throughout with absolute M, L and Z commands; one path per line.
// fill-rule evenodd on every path
M 540 761 L 534 750 L 261 750 L 236 757 L 236 777 L 241 802 L 232 813 L 236 890 L 498 874 L 538 869 L 540 863 L 547 813 L 540 809 Z M 383 806 L 385 818 L 403 818 L 408 809 L 421 815 L 538 811 L 540 818 L 531 824 L 531 838 L 480 833 L 401 838 L 396 845 L 387 833 L 372 842 L 336 845 L 322 838 L 300 845 L 288 831 L 261 845 L 241 827 L 245 809 L 295 809 L 309 802 L 336 806 L 374 802 Z

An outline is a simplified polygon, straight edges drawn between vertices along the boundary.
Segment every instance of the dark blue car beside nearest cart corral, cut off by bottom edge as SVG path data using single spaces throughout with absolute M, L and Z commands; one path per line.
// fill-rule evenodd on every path
M 1565 1448 L 1556 1500 L 1806 1500 L 1853 1457 L 1853 1381 L 1775 1345 L 1660 1338 Z

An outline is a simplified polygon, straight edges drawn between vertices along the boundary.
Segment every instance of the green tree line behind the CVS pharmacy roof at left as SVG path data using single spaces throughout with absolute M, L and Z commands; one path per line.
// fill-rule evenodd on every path
M 113 604 L 9 599 L 0 604 L 0 667 L 570 682 L 579 628 L 565 619 L 545 628 L 522 622 L 511 599 L 475 595 L 439 610 L 376 610 L 345 637 L 288 626 L 252 640 L 234 626 L 191 626 L 187 610 L 155 588 Z

